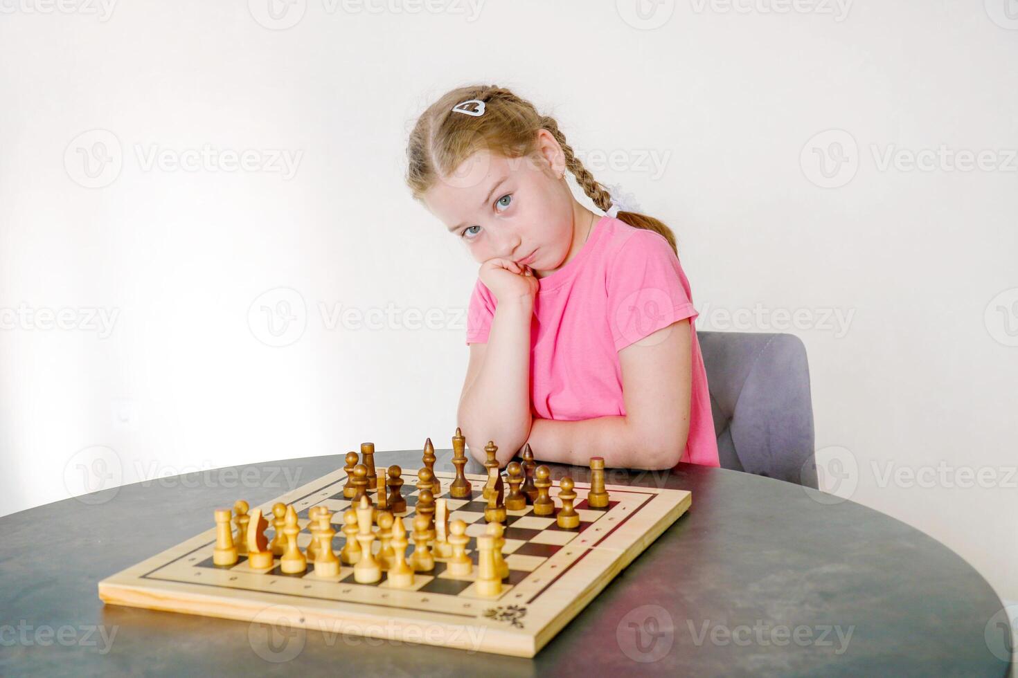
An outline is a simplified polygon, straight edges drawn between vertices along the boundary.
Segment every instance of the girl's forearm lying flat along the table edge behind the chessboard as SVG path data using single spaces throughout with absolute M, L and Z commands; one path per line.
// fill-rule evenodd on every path
M 622 416 L 578 421 L 536 418 L 526 442 L 539 460 L 583 467 L 591 456 L 603 456 L 609 468 L 671 469 L 683 452 L 656 449 Z

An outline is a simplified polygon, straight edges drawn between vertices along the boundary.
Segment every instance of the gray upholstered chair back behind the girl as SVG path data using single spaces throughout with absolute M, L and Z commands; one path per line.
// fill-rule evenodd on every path
M 794 334 L 697 331 L 724 469 L 816 487 L 806 348 Z

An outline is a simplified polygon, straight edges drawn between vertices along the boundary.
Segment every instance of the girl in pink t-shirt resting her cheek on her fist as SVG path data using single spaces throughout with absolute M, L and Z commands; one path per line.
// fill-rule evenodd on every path
M 661 222 L 619 211 L 554 118 L 495 85 L 453 89 L 407 147 L 413 197 L 480 263 L 457 421 L 471 453 L 719 466 L 689 282 Z M 605 215 L 581 205 L 569 171 Z

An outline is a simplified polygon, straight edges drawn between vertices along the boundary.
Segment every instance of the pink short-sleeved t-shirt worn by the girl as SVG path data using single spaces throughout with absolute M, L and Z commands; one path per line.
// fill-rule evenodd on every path
M 540 279 L 530 326 L 530 411 L 575 421 L 624 416 L 618 352 L 689 318 L 692 391 L 682 461 L 717 467 L 718 441 L 689 281 L 660 234 L 602 217 L 579 252 Z M 498 301 L 477 279 L 466 343 L 488 342 Z

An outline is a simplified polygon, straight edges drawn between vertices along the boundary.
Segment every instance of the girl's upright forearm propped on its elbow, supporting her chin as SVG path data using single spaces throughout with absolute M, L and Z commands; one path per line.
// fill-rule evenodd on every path
M 533 300 L 499 302 L 488 335 L 485 362 L 460 399 L 458 425 L 478 461 L 485 445 L 498 445 L 505 465 L 530 430 L 530 322 Z

